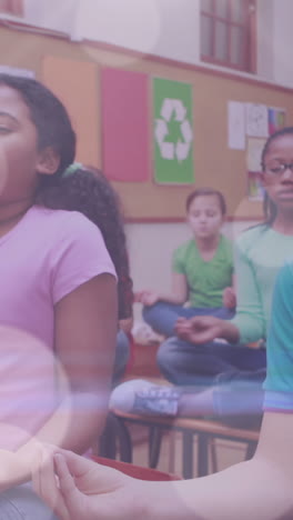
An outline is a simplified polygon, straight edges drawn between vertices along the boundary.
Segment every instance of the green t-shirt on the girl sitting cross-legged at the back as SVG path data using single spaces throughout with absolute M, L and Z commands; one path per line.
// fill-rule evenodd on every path
M 232 242 L 221 234 L 212 260 L 205 261 L 194 240 L 189 240 L 173 254 L 173 272 L 184 274 L 192 307 L 222 307 L 223 290 L 232 284 Z

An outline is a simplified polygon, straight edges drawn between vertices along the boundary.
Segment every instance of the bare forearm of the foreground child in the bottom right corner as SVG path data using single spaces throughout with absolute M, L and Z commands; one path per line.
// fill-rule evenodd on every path
M 145 520 L 276 520 L 292 518 L 291 480 L 263 459 L 201 479 L 149 483 Z

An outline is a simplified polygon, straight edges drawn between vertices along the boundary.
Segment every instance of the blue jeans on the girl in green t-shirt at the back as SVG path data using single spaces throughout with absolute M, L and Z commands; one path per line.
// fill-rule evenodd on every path
M 155 332 L 170 338 L 174 336 L 174 326 L 178 318 L 193 318 L 194 316 L 215 316 L 222 320 L 231 320 L 234 310 L 224 307 L 198 308 L 183 307 L 159 301 L 154 306 L 144 307 L 143 319 Z

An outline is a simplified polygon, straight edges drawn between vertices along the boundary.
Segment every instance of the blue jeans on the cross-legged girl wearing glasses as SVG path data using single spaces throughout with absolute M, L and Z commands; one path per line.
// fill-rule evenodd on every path
M 179 338 L 164 341 L 158 364 L 173 384 L 198 392 L 213 388 L 216 417 L 261 414 L 266 350 L 212 341 L 192 344 Z

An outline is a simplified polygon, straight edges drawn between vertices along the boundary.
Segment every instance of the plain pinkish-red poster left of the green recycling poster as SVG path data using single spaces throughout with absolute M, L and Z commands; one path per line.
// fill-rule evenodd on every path
M 115 181 L 150 177 L 148 76 L 105 68 L 101 74 L 103 172 Z

